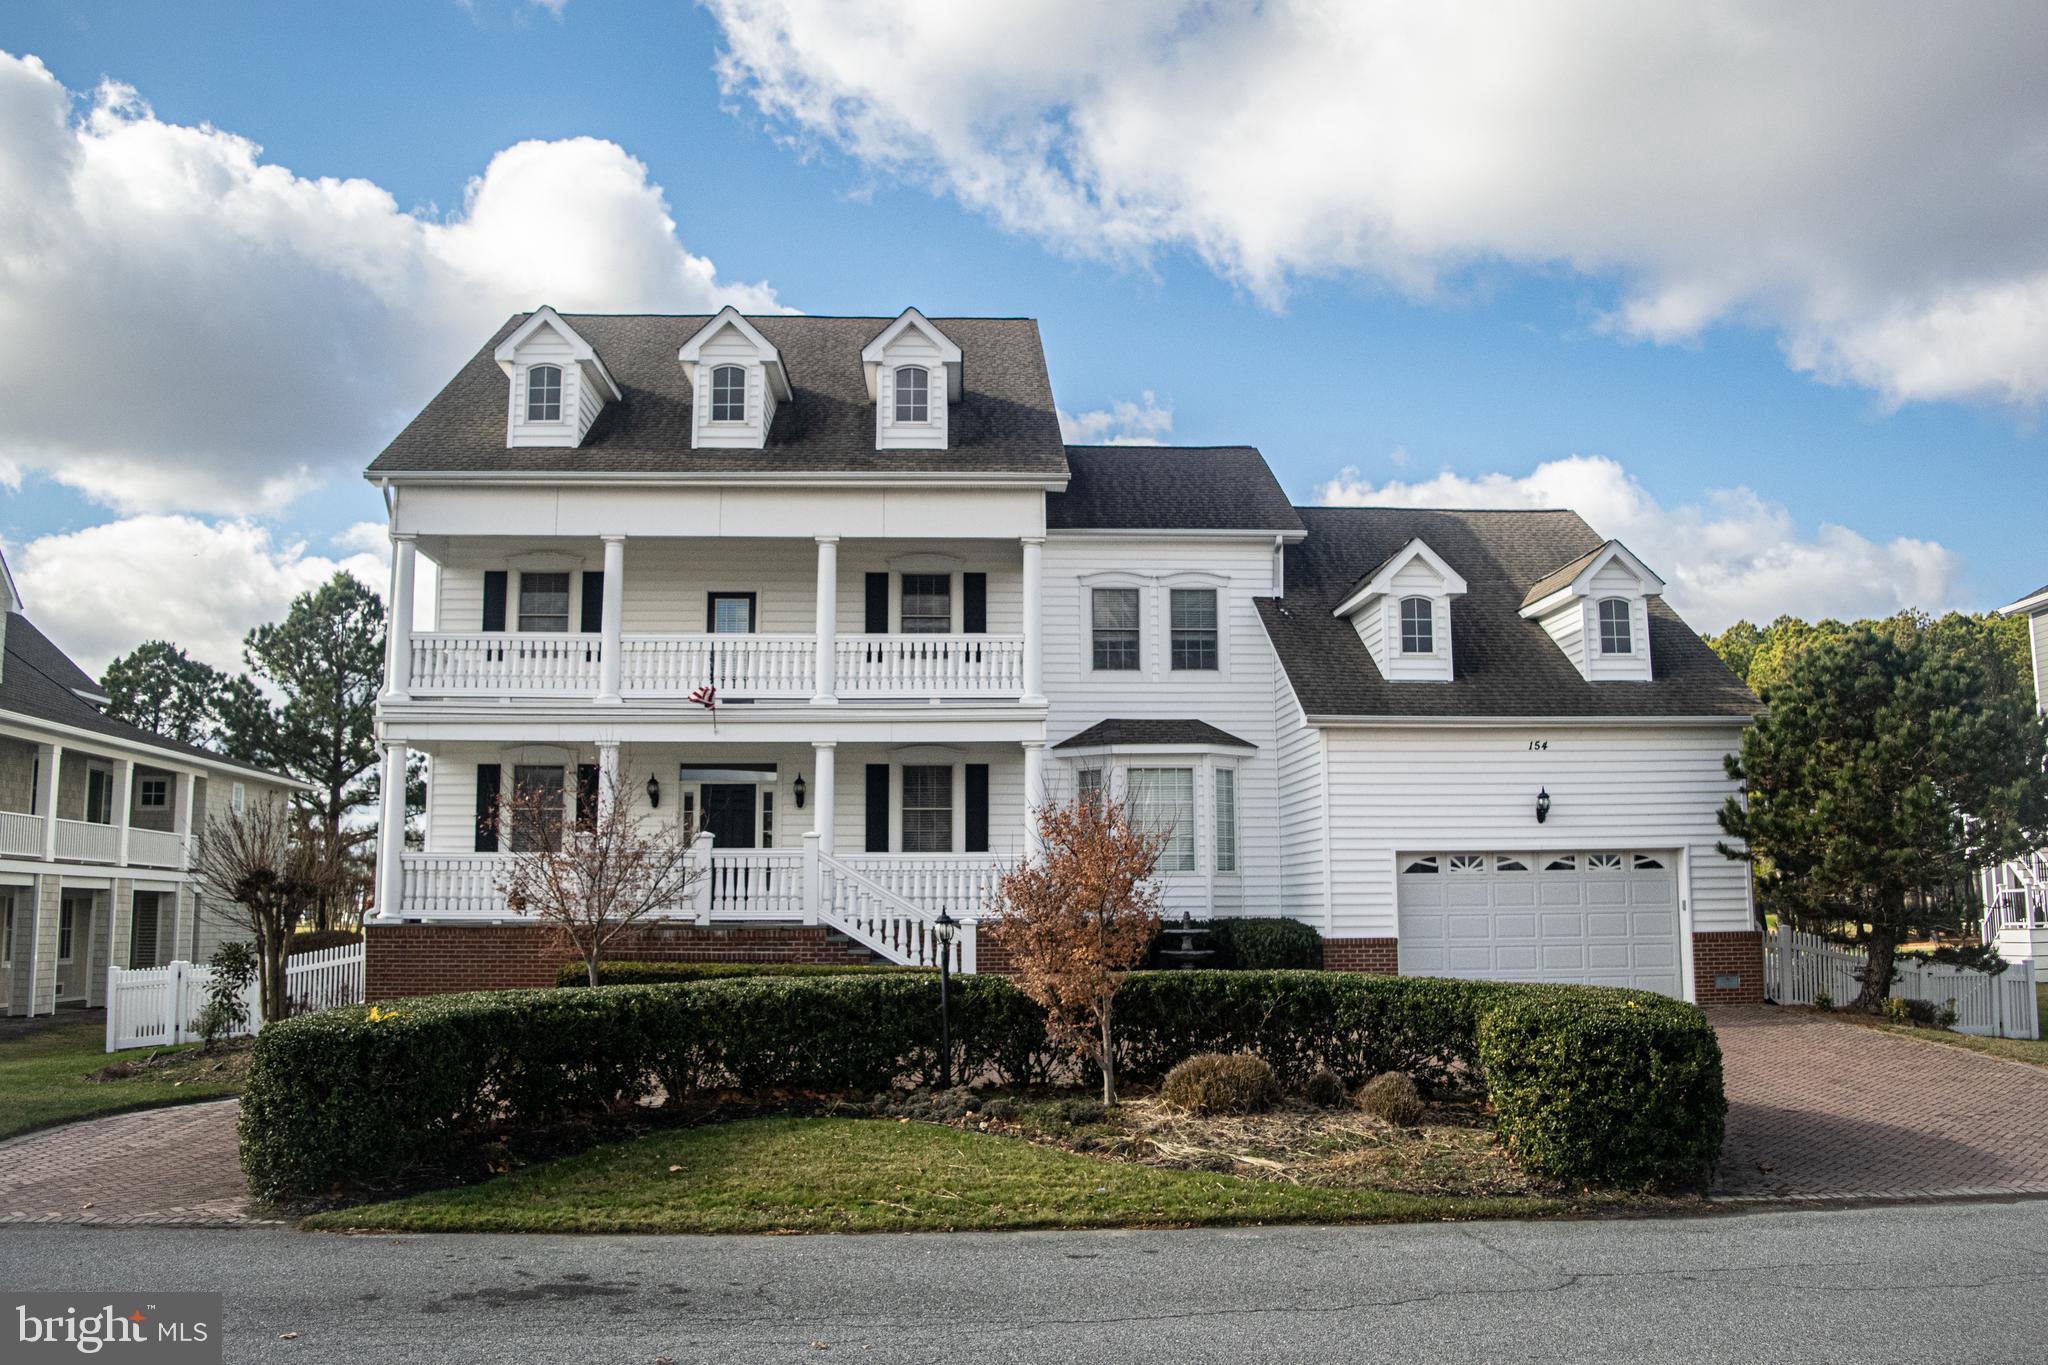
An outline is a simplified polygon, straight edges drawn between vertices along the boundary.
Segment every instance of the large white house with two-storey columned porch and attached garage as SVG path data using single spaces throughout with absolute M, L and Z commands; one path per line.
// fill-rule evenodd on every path
M 1102 788 L 1169 833 L 1167 915 L 1290 915 L 1329 966 L 1761 995 L 1714 849 L 1757 702 L 1571 512 L 1294 508 L 1249 446 L 1065 446 L 1036 323 L 915 309 L 520 315 L 369 479 L 385 790 L 430 759 L 373 997 L 553 980 L 496 890 L 514 790 L 711 833 L 625 956 L 905 960 Z

